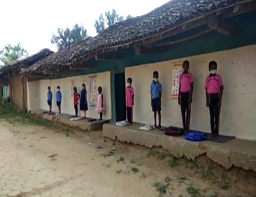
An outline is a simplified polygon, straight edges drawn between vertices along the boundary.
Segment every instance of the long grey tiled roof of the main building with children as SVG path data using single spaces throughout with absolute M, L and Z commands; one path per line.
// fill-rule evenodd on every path
M 159 34 L 177 24 L 212 10 L 228 6 L 238 0 L 172 0 L 140 17 L 131 18 L 108 27 L 95 37 L 89 37 L 69 48 L 58 51 L 32 65 L 35 71 L 43 65 L 69 63 L 74 59 L 104 47 L 124 45 Z

